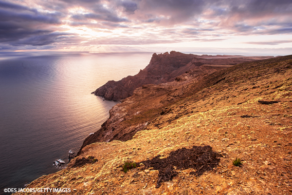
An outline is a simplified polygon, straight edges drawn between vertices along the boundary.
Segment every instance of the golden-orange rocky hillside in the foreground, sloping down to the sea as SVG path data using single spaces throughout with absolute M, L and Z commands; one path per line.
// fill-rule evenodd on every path
M 292 56 L 193 73 L 136 89 L 95 133 L 132 139 L 86 145 L 66 169 L 27 188 L 71 188 L 66 194 L 74 195 L 291 194 Z M 236 157 L 242 166 L 233 165 Z M 138 167 L 124 173 L 125 161 Z

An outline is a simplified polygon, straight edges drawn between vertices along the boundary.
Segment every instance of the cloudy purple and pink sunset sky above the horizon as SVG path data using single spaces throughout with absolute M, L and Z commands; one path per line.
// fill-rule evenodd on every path
M 292 0 L 0 0 L 1 51 L 292 54 Z

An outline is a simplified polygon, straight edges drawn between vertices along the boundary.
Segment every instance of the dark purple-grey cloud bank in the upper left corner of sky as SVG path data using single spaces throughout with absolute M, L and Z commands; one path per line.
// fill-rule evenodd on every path
M 61 13 L 41 13 L 37 9 L 0 1 L 0 42 L 16 44 L 50 44 L 52 41 L 37 39 L 52 35 L 61 24 Z M 23 41 L 23 40 L 32 40 Z

